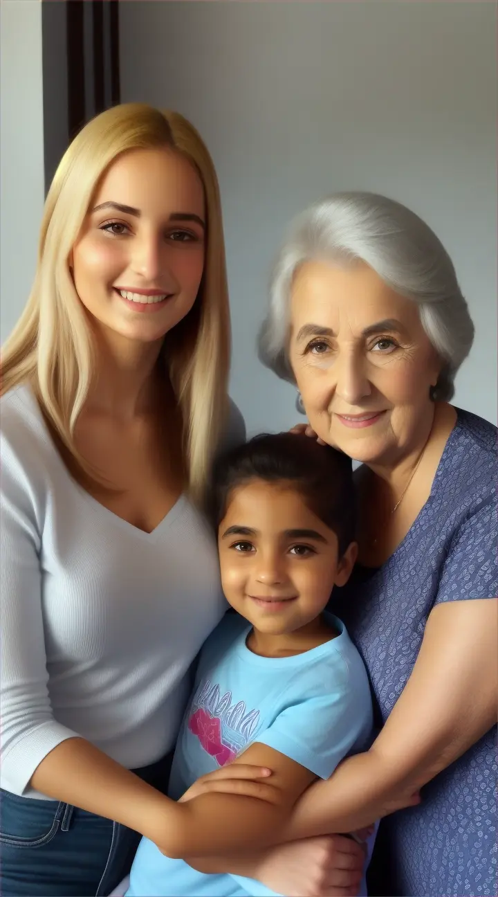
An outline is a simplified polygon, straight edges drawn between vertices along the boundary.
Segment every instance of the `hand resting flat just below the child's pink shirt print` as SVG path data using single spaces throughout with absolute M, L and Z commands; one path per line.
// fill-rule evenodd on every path
M 271 775 L 271 770 L 262 766 L 250 766 L 247 763 L 228 763 L 219 770 L 209 772 L 208 775 L 197 779 L 180 797 L 179 803 L 193 800 L 215 791 L 219 794 L 236 794 L 242 797 L 258 797 L 268 803 L 275 803 L 277 789 L 269 781 L 265 781 Z

